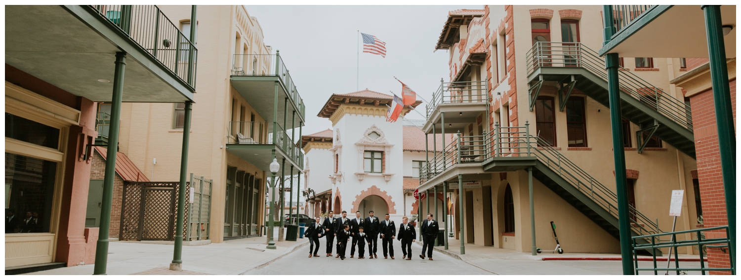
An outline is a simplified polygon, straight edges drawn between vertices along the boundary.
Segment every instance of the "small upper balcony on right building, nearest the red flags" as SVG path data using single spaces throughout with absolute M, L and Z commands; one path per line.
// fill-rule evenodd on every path
M 425 133 L 451 133 L 464 129 L 476 122 L 476 117 L 488 110 L 486 81 L 440 82 L 425 106 L 427 122 L 422 128 Z

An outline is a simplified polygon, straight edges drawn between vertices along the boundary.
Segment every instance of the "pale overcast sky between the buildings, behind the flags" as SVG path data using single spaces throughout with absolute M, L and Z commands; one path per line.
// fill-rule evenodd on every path
M 316 117 L 333 93 L 356 91 L 357 50 L 360 52 L 359 89 L 401 94 L 402 85 L 430 100 L 448 80 L 448 51 L 433 53 L 448 11 L 482 9 L 458 6 L 252 6 L 265 44 L 280 50 L 299 95 L 306 104 L 304 134 L 329 129 L 327 118 Z M 386 42 L 386 57 L 362 52 L 361 33 Z M 360 42 L 360 48 L 358 48 Z M 425 103 L 419 107 L 424 114 Z M 410 112 L 410 119 L 423 119 Z

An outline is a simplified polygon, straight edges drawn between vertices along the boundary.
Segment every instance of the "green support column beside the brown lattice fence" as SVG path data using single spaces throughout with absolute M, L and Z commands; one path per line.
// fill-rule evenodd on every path
M 183 124 L 183 146 L 180 157 L 180 191 L 178 191 L 178 216 L 175 222 L 175 250 L 170 270 L 182 270 L 183 249 L 183 220 L 185 219 L 185 192 L 190 191 L 185 185 L 187 176 L 187 149 L 190 146 L 190 115 L 192 114 L 191 101 L 185 101 L 185 123 Z

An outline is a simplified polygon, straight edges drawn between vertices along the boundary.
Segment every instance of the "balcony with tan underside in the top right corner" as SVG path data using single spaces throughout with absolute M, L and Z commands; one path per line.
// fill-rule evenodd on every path
M 619 53 L 628 58 L 707 58 L 705 15 L 694 5 L 612 5 L 616 33 L 599 55 Z M 736 57 L 736 6 L 722 5 L 726 58 Z

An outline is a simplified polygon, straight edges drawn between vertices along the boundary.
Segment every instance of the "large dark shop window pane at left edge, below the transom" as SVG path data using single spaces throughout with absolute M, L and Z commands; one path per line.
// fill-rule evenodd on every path
M 5 233 L 48 233 L 57 163 L 5 153 Z

